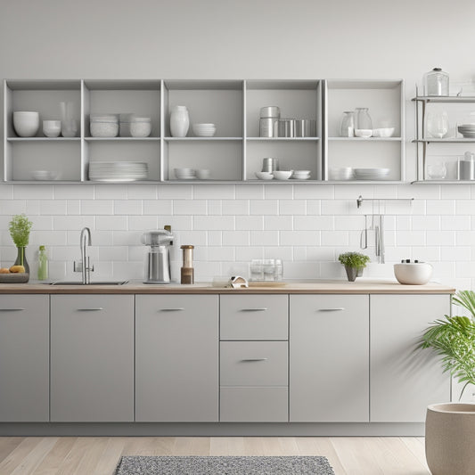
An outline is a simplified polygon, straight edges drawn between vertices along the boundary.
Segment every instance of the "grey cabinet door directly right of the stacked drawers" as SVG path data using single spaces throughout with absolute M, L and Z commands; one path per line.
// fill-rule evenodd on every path
M 291 422 L 368 422 L 367 295 L 291 295 Z

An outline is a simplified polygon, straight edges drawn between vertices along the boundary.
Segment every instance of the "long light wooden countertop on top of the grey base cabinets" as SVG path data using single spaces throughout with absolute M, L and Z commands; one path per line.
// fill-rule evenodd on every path
M 356 279 L 350 283 L 344 280 L 322 280 L 307 282 L 279 283 L 278 286 L 269 284 L 250 284 L 248 289 L 231 289 L 213 287 L 211 283 L 194 283 L 192 285 L 145 284 L 131 281 L 124 285 L 48 285 L 45 283 L 0 283 L 0 294 L 453 294 L 455 289 L 439 283 L 425 285 L 401 285 L 396 280 L 366 280 Z

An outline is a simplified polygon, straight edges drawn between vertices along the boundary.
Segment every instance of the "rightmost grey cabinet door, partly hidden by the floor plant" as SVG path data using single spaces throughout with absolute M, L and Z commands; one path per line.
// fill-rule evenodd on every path
M 423 422 L 427 405 L 450 400 L 450 382 L 437 357 L 415 347 L 450 315 L 450 296 L 372 295 L 370 308 L 371 422 Z

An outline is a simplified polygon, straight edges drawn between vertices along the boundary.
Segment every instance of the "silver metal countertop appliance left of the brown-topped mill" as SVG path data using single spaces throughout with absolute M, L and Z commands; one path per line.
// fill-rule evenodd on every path
M 144 283 L 170 283 L 170 246 L 174 235 L 167 229 L 147 231 L 140 241 L 150 246 L 147 252 Z

